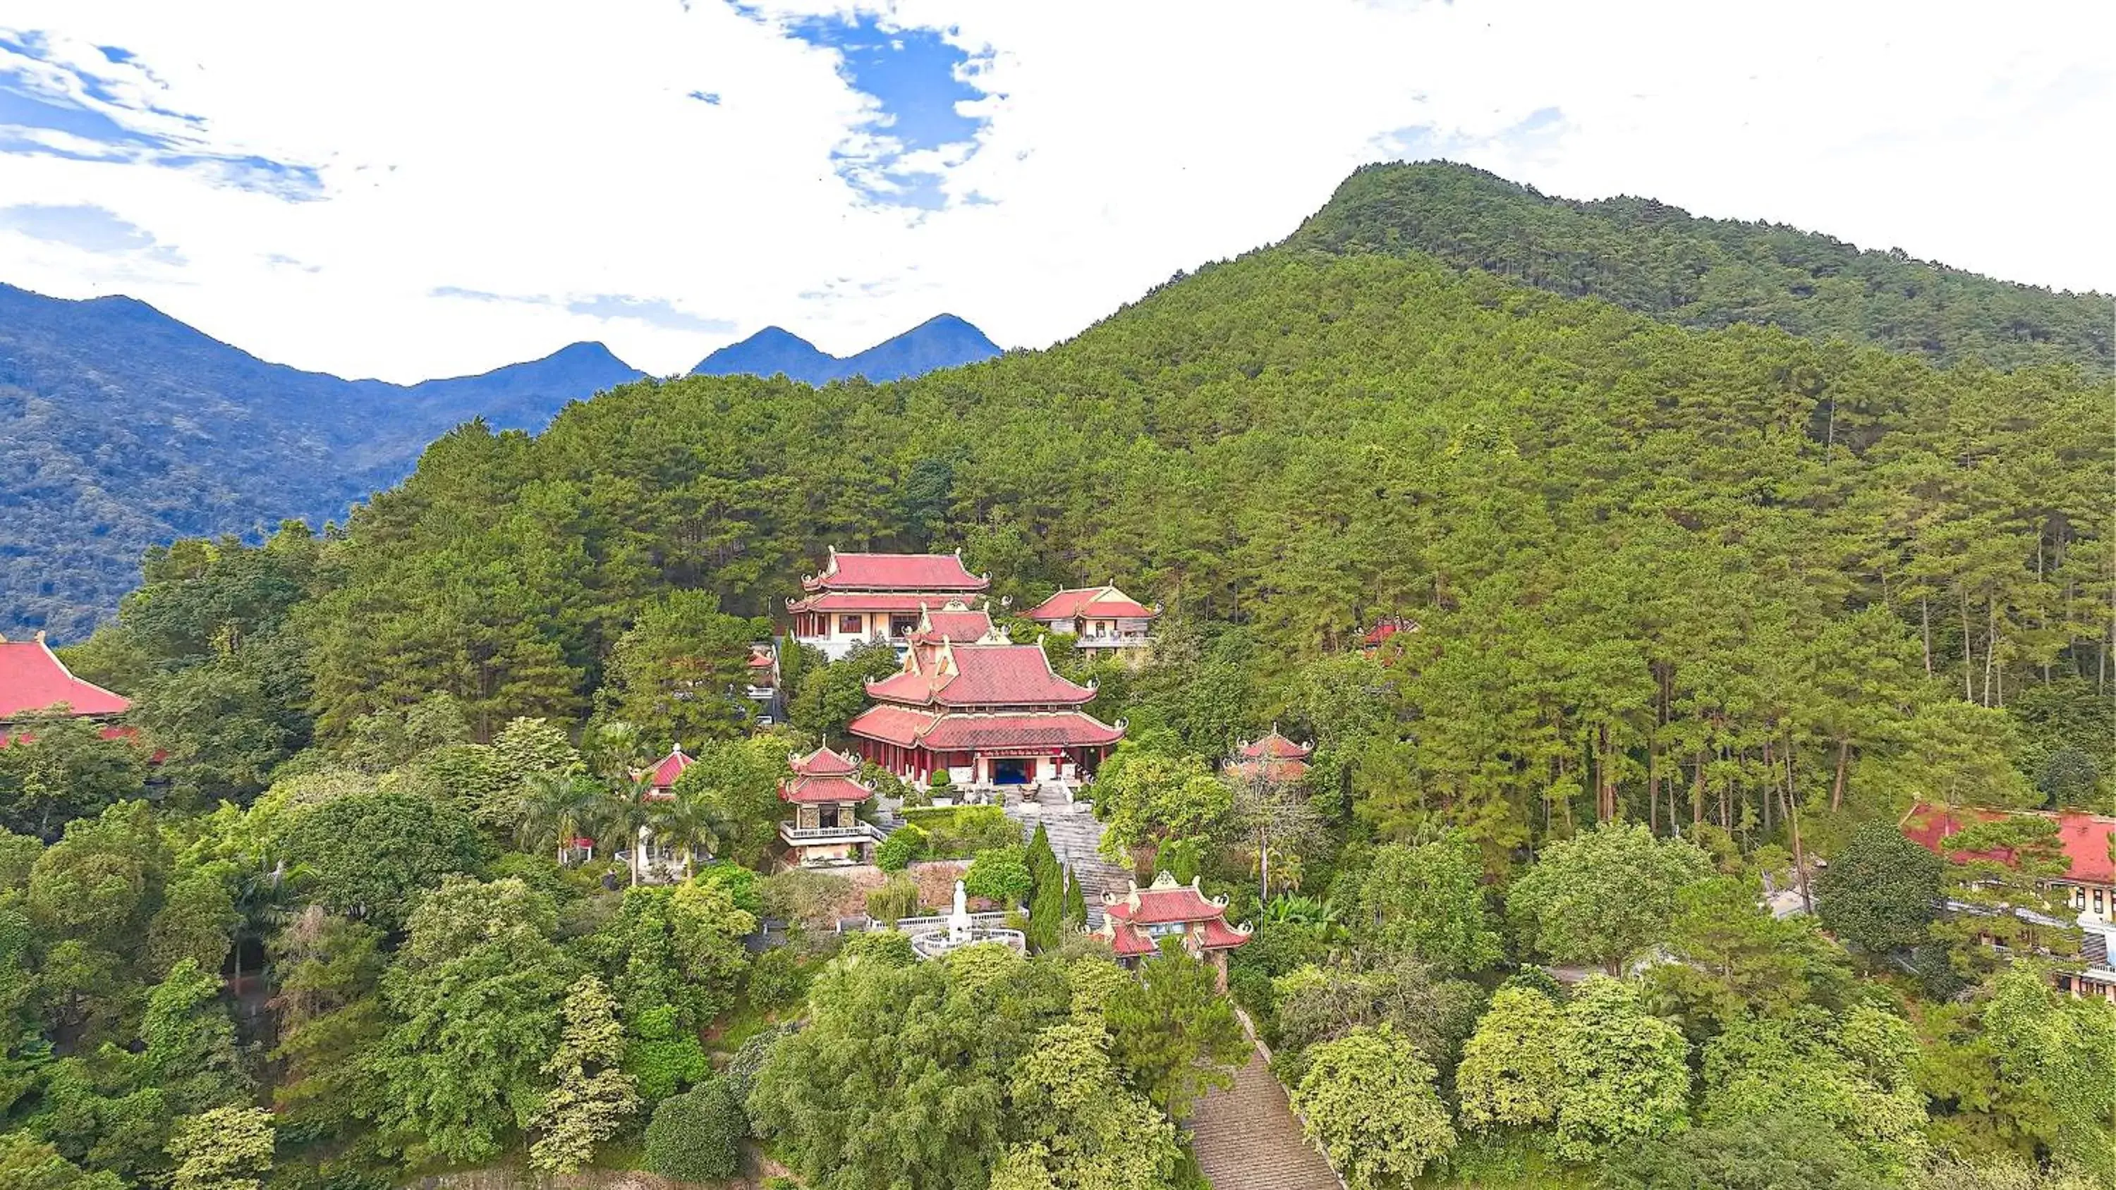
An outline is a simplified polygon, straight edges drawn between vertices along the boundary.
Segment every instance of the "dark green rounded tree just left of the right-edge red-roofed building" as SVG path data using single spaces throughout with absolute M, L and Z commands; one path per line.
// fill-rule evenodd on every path
M 1940 856 L 1885 822 L 1852 833 L 1816 877 L 1816 915 L 1847 947 L 1887 955 L 1926 941 L 1940 909 Z

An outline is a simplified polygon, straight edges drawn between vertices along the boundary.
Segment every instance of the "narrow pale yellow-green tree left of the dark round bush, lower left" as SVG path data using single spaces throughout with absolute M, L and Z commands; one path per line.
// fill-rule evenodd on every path
M 529 1165 L 552 1173 L 576 1173 L 595 1156 L 595 1146 L 624 1129 L 639 1110 L 633 1076 L 620 1070 L 624 1029 L 618 1002 L 601 979 L 584 977 L 565 996 L 565 1036 L 544 1063 L 559 1084 L 544 1097 L 529 1146 Z

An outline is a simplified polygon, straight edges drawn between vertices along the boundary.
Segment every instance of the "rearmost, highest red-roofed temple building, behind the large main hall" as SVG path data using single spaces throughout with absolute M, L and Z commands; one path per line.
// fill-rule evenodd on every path
M 971 575 L 963 554 L 838 554 L 823 573 L 800 581 L 802 598 L 787 600 L 794 640 L 821 649 L 832 662 L 865 640 L 906 647 L 929 607 L 982 596 L 992 579 Z M 967 602 L 965 602 L 967 607 Z

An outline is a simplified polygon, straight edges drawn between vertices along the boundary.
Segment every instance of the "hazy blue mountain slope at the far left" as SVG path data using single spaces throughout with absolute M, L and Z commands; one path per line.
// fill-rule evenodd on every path
M 565 402 L 639 376 L 576 342 L 482 376 L 341 380 L 133 298 L 0 285 L 0 634 L 87 636 L 140 581 L 150 543 L 345 520 L 461 421 L 540 429 Z

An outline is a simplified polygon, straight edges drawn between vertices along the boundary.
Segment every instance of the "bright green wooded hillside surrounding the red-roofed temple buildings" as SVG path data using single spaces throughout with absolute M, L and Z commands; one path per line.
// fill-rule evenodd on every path
M 2112 807 L 2105 378 L 1727 321 L 1280 245 L 1050 351 L 637 380 L 449 431 L 341 535 L 152 550 L 63 651 L 140 736 L 0 748 L 0 1173 L 1206 1190 L 1234 1000 L 1348 1186 L 2112 1190 L 2050 884 L 2110 820 L 1998 814 Z M 1039 640 L 1126 723 L 1092 810 L 1024 843 L 865 765 L 872 881 L 781 871 L 787 757 L 899 666 L 781 640 L 755 723 L 832 545 L 961 547 L 1001 619 L 1162 605 L 1136 662 Z M 1225 763 L 1274 723 L 1306 771 Z M 1253 926 L 1225 989 L 1083 934 L 1058 814 Z M 916 957 L 956 877 L 1026 957 Z

